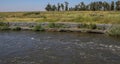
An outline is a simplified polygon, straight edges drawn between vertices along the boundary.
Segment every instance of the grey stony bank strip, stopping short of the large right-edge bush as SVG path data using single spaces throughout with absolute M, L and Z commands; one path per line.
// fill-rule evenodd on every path
M 82 24 L 82 23 L 37 23 L 37 22 L 4 22 L 10 29 L 34 30 L 34 31 L 56 31 L 56 32 L 86 32 L 104 34 L 112 24 Z

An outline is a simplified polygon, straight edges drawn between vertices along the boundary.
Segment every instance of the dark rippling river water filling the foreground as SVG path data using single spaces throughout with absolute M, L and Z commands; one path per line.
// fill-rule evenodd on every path
M 0 32 L 0 64 L 120 64 L 120 38 L 65 32 Z

